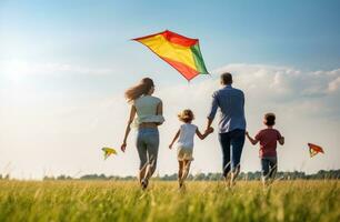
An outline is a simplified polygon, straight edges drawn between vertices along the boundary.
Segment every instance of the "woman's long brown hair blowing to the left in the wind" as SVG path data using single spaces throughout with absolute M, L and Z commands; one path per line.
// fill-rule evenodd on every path
M 154 84 L 152 79 L 143 78 L 137 85 L 131 87 L 126 91 L 126 98 L 128 102 L 131 102 L 141 95 L 148 94 L 153 87 Z

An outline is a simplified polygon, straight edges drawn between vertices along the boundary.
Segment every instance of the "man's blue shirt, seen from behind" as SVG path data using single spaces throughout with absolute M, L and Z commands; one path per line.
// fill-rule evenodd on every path
M 212 94 L 209 119 L 214 119 L 218 108 L 220 108 L 219 133 L 237 129 L 246 130 L 244 94 L 241 90 L 228 84 L 216 91 Z

